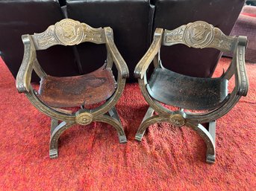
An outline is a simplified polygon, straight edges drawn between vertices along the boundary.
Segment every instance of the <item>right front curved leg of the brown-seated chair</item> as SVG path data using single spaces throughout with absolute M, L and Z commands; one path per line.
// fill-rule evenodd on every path
M 116 129 L 116 132 L 119 137 L 119 143 L 127 143 L 127 138 L 125 136 L 124 129 L 122 129 L 122 124 L 114 116 L 115 116 L 115 114 L 113 114 L 113 117 L 110 117 L 107 114 L 103 114 L 103 115 L 95 117 L 94 121 L 99 121 L 99 122 L 110 124 L 111 126 L 113 126 Z

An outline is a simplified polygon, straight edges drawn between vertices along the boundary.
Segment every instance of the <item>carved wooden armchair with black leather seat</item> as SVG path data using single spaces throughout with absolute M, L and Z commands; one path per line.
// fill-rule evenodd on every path
M 216 157 L 216 119 L 227 114 L 246 96 L 249 82 L 246 75 L 246 36 L 225 36 L 221 30 L 207 22 L 192 22 L 175 30 L 157 28 L 149 50 L 137 64 L 137 77 L 149 109 L 137 131 L 136 140 L 141 140 L 146 128 L 153 123 L 169 122 L 174 126 L 189 126 L 204 140 L 207 146 L 206 161 L 213 164 Z M 161 45 L 184 44 L 192 48 L 216 48 L 233 52 L 231 65 L 216 78 L 190 77 L 163 68 L 160 60 Z M 154 63 L 154 72 L 147 80 L 147 70 Z M 228 93 L 228 81 L 235 77 L 235 85 Z M 171 111 L 163 106 L 178 107 Z M 154 114 L 156 111 L 157 114 Z M 208 126 L 203 126 L 208 123 Z

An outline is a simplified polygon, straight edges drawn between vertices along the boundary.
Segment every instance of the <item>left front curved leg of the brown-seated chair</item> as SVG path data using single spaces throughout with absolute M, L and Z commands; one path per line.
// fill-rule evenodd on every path
M 54 120 L 51 124 L 55 123 Z M 55 123 L 56 124 L 56 123 Z M 50 158 L 57 158 L 58 155 L 58 140 L 61 134 L 69 129 L 74 123 L 66 123 L 65 121 L 61 122 L 58 126 L 51 129 L 51 138 L 50 138 Z

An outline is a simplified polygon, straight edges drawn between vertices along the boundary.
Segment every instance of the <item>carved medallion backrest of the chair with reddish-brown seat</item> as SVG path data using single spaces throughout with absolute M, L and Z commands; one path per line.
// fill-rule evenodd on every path
M 36 50 L 44 50 L 53 45 L 78 45 L 81 42 L 103 44 L 104 29 L 93 28 L 72 19 L 63 19 L 51 25 L 43 33 L 31 35 Z

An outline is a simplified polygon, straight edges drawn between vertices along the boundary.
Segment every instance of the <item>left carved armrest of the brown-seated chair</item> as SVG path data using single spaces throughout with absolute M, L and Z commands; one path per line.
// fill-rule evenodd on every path
M 34 48 L 31 36 L 28 34 L 22 35 L 22 42 L 24 44 L 24 56 L 22 65 L 20 65 L 16 77 L 16 88 L 19 93 L 28 92 L 30 90 L 33 63 L 36 59 L 36 50 Z

